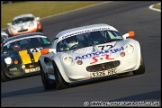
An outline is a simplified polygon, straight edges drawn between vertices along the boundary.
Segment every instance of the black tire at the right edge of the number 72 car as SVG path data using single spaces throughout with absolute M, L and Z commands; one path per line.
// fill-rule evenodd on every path
M 145 73 L 145 64 L 144 64 L 143 57 L 141 56 L 141 65 L 137 70 L 133 71 L 133 74 L 140 75 L 140 74 L 144 74 L 144 73 Z

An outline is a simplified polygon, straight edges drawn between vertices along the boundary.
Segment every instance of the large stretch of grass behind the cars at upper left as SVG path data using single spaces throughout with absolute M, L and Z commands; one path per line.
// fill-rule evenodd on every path
M 1 28 L 6 28 L 6 24 L 20 14 L 32 13 L 43 18 L 102 2 L 104 1 L 26 1 L 1 4 Z

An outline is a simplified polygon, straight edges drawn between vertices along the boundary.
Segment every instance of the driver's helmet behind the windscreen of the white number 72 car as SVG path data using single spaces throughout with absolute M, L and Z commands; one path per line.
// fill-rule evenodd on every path
M 78 44 L 78 40 L 77 40 L 76 36 L 67 38 L 66 45 L 68 48 L 71 48 L 72 46 L 77 45 L 77 44 Z

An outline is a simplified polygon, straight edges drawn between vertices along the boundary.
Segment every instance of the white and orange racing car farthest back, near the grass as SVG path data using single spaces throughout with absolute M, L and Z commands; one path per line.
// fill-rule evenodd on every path
M 12 23 L 8 23 L 8 32 L 10 36 L 31 32 L 42 32 L 42 22 L 39 17 L 33 14 L 22 14 L 13 18 Z

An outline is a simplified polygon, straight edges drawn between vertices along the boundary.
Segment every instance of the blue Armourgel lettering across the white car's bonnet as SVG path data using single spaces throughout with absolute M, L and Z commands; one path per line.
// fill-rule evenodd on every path
M 92 58 L 92 57 L 104 55 L 104 54 L 107 54 L 107 53 L 116 53 L 116 52 L 119 52 L 119 51 L 122 51 L 122 50 L 124 50 L 124 47 L 114 48 L 114 49 L 109 49 L 109 50 L 103 50 L 103 51 L 99 51 L 99 52 L 92 52 L 92 53 L 85 54 L 85 55 L 82 55 L 82 56 L 76 56 L 75 60 Z M 109 57 L 109 56 L 107 55 L 107 57 Z

